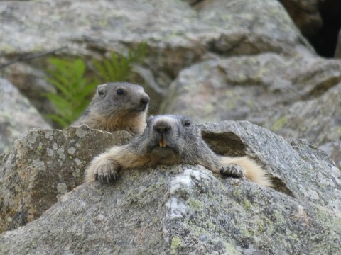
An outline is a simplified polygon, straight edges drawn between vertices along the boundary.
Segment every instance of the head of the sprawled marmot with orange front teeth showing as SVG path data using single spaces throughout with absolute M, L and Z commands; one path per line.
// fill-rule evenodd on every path
M 181 115 L 158 115 L 147 119 L 144 149 L 155 157 L 188 157 L 202 141 L 200 129 Z M 146 139 L 147 138 L 147 139 Z

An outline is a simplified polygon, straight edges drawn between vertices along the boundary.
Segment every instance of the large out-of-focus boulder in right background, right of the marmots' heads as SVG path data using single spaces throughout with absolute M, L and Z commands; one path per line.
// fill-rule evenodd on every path
M 199 120 L 250 120 L 284 137 L 308 138 L 341 166 L 340 93 L 340 60 L 265 53 L 184 69 L 162 111 Z

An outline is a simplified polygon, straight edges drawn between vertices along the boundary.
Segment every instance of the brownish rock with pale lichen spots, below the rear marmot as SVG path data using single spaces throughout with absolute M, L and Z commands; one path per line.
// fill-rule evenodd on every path
M 0 232 L 35 220 L 84 181 L 92 157 L 130 138 L 125 131 L 111 134 L 85 126 L 28 132 L 0 159 Z

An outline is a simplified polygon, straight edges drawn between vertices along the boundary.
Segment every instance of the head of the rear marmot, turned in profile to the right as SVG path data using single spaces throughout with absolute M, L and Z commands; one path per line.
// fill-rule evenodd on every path
M 147 111 L 149 101 L 149 96 L 139 85 L 107 83 L 97 86 L 91 108 L 107 118 L 136 115 Z

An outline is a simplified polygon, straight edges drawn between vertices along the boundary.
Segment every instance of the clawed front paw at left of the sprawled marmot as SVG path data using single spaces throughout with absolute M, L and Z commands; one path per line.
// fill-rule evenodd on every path
M 117 163 L 114 159 L 102 159 L 100 162 L 95 164 L 92 173 L 94 174 L 94 180 L 100 181 L 101 183 L 110 183 L 117 179 L 118 171 Z

